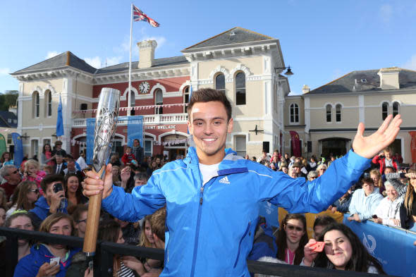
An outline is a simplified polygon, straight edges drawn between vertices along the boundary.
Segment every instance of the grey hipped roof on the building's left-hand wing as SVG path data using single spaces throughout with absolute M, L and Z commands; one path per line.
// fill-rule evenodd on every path
M 87 73 L 95 73 L 95 71 L 97 71 L 96 68 L 90 66 L 87 62 L 78 58 L 78 56 L 75 56 L 74 54 L 72 54 L 71 51 L 66 51 L 66 52 L 63 52 L 62 54 L 59 54 L 58 56 L 52 57 L 51 59 L 47 59 L 45 61 L 41 61 L 40 63 L 36 63 L 33 66 L 29 66 L 27 68 L 18 70 L 12 73 L 12 75 L 25 73 L 25 72 L 33 71 L 33 70 L 61 68 L 64 66 L 72 66 L 73 68 L 78 68 Z

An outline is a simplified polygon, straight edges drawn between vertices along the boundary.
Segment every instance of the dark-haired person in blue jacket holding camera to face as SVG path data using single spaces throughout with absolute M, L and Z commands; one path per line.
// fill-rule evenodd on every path
M 61 212 L 68 214 L 68 201 L 65 198 L 63 187 L 63 176 L 51 175 L 45 177 L 40 183 L 44 196 L 40 197 L 35 203 L 35 208 L 29 211 L 35 230 L 47 216 Z

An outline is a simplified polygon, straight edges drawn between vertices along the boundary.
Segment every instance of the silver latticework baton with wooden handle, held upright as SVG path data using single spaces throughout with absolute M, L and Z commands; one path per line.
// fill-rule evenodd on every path
M 111 142 L 116 132 L 118 108 L 120 106 L 120 91 L 104 87 L 99 94 L 97 117 L 94 132 L 94 154 L 92 156 L 92 171 L 103 178 L 106 161 L 111 153 Z M 99 211 L 101 209 L 102 192 L 90 197 L 88 204 L 87 229 L 85 230 L 83 251 L 87 257 L 94 256 L 97 244 Z

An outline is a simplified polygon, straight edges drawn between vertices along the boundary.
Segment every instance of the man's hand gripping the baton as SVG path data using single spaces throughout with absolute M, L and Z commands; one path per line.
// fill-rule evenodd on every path
M 102 199 L 106 198 L 113 191 L 113 173 L 111 171 L 111 164 L 106 166 L 106 175 L 104 176 L 104 182 L 99 178 L 98 173 L 94 171 L 88 171 L 86 173 L 87 178 L 82 182 L 84 191 L 82 192 L 86 197 L 98 195 L 100 191 L 102 193 Z

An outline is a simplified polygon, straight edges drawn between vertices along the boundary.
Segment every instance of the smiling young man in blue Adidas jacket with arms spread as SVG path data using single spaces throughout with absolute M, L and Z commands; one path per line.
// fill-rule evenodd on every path
M 326 209 L 369 167 L 370 158 L 393 142 L 401 119 L 391 118 L 369 137 L 363 136 L 360 123 L 354 151 L 334 161 L 320 178 L 306 182 L 225 149 L 227 133 L 233 130 L 231 104 L 224 92 L 201 89 L 188 104 L 188 128 L 196 147 L 188 149 L 185 159 L 154 171 L 147 185 L 135 187 L 131 195 L 112 185 L 111 165 L 104 182 L 90 171 L 84 194 L 104 190 L 104 209 L 132 222 L 166 205 L 169 240 L 160 276 L 250 276 L 246 258 L 258 203 L 269 201 L 290 213 Z

